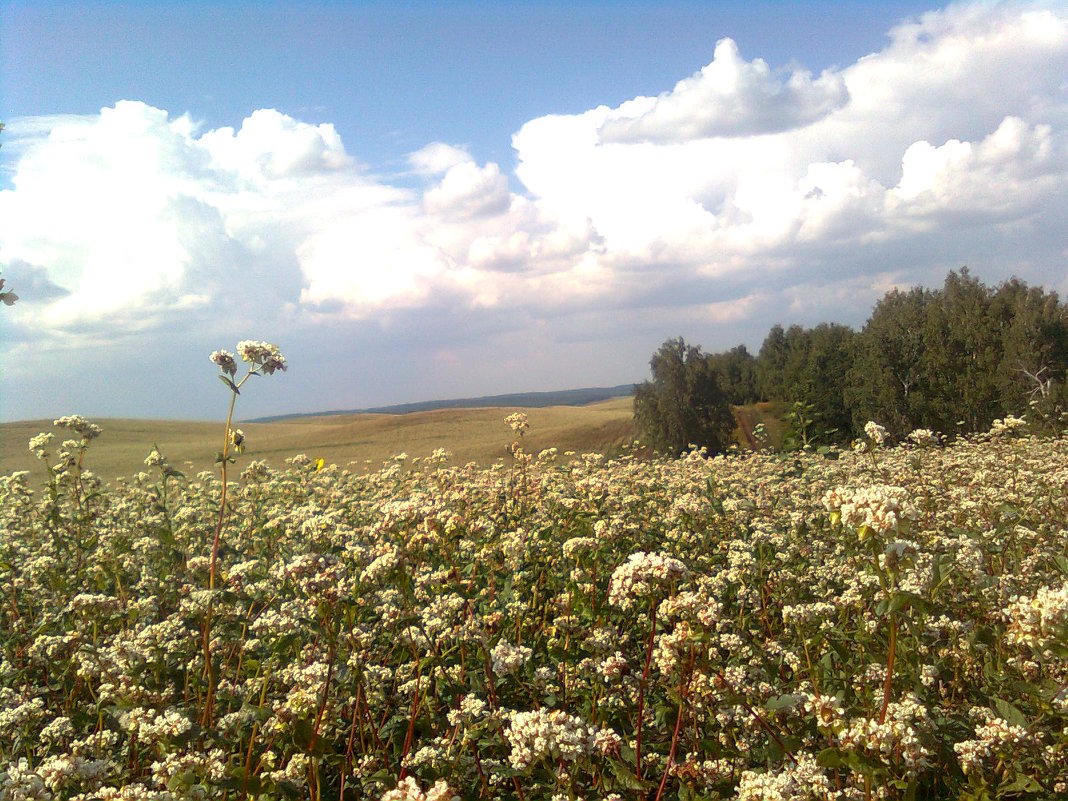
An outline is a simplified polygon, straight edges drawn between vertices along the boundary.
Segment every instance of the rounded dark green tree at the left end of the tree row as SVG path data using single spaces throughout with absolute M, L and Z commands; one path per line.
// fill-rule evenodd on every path
M 649 366 L 653 380 L 634 391 L 634 420 L 645 441 L 673 455 L 690 445 L 725 450 L 735 421 L 712 360 L 678 337 L 661 345 Z

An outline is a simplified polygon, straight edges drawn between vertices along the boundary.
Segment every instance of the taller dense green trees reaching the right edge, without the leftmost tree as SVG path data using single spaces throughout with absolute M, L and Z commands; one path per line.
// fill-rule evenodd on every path
M 755 371 L 760 395 L 804 405 L 823 439 L 857 437 L 873 419 L 897 439 L 976 433 L 1028 411 L 1058 430 L 1068 307 L 1016 279 L 989 288 L 963 268 L 940 289 L 889 292 L 860 332 L 774 326 Z

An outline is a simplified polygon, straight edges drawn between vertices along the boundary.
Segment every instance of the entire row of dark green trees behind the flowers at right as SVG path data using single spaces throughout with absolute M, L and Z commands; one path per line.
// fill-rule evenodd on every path
M 1068 305 L 1011 279 L 988 287 L 968 268 L 939 289 L 893 289 L 864 327 L 775 325 L 756 356 L 744 345 L 705 354 L 681 339 L 653 356 L 635 388 L 643 436 L 665 452 L 729 443 L 729 407 L 786 404 L 805 440 L 847 442 L 875 420 L 893 437 L 986 430 L 1032 412 L 1058 425 L 1068 408 Z M 811 436 L 810 436 L 811 435 Z

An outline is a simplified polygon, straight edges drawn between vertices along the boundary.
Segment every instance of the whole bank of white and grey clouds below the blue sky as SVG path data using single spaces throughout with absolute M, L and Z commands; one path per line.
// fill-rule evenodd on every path
M 12 120 L 0 266 L 21 299 L 0 359 L 21 389 L 0 414 L 67 397 L 41 360 L 70 375 L 87 348 L 175 364 L 288 339 L 295 364 L 368 377 L 333 370 L 336 408 L 366 386 L 411 394 L 348 405 L 632 380 L 668 336 L 860 325 L 886 287 L 962 264 L 1065 293 L 1065 75 L 1054 5 L 951 5 L 819 76 L 724 40 L 657 97 L 528 121 L 514 174 L 431 142 L 395 180 L 270 109 L 236 129 L 136 101 Z M 134 380 L 92 368 L 101 397 Z

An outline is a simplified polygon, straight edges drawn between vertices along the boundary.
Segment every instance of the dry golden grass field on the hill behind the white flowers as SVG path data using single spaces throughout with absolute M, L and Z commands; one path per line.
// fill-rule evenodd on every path
M 612 453 L 634 439 L 632 400 L 613 398 L 587 406 L 545 408 L 440 409 L 410 414 L 331 414 L 271 423 L 236 423 L 245 431 L 247 449 L 238 466 L 265 459 L 283 467 L 299 453 L 324 458 L 327 464 L 378 468 L 402 452 L 424 457 L 444 447 L 454 464 L 476 461 L 488 466 L 508 457 L 512 430 L 504 418 L 524 411 L 531 428 L 524 447 L 537 453 L 546 447 L 564 451 Z M 112 480 L 144 469 L 153 443 L 172 465 L 187 474 L 209 470 L 221 449 L 222 421 L 175 422 L 162 420 L 94 420 L 104 434 L 90 447 L 87 467 Z M 0 425 L 0 473 L 30 470 L 44 475 L 27 449 L 30 438 L 52 430 L 50 420 Z M 57 433 L 52 444 L 58 445 Z

